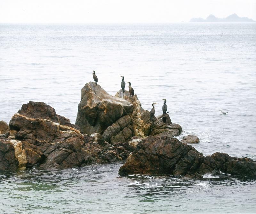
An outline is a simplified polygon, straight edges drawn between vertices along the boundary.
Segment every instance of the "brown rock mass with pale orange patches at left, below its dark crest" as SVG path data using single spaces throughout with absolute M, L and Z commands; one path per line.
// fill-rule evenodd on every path
M 48 109 L 51 108 L 47 107 L 45 111 Z M 10 136 L 0 136 L 0 170 L 25 169 L 35 165 L 43 169 L 63 169 L 113 163 L 126 159 L 133 151 L 128 143 L 109 144 L 99 133 L 81 134 L 80 130 L 68 126 L 70 124 L 61 125 L 48 120 L 49 114 L 43 110 L 40 114 L 32 110 L 31 118 L 27 111 L 19 112 L 26 116 L 14 114 L 9 123 Z M 64 117 L 62 119 L 68 121 Z

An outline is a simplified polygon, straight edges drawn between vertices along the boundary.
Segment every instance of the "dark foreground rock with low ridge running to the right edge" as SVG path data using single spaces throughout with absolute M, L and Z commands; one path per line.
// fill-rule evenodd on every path
M 234 175 L 256 176 L 256 162 L 225 153 L 204 157 L 192 146 L 171 137 L 141 140 L 119 169 L 119 174 L 172 174 L 201 177 L 213 170 Z

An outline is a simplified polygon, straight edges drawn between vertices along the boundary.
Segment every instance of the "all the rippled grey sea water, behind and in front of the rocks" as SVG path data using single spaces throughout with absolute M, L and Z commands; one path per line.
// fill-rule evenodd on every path
M 80 89 L 112 95 L 121 77 L 142 106 L 167 100 L 195 148 L 256 160 L 256 23 L 0 25 L 0 120 L 29 100 L 75 122 Z M 219 110 L 228 111 L 220 115 Z M 180 136 L 181 138 L 182 136 Z M 122 164 L 0 174 L 2 213 L 252 213 L 255 180 L 119 177 Z

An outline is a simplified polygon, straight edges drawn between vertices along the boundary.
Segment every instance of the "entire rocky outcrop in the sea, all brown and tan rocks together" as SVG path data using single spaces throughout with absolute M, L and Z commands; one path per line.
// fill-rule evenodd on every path
M 113 97 L 92 82 L 81 91 L 76 125 L 45 103 L 29 101 L 13 115 L 6 134 L 0 135 L 0 170 L 63 169 L 127 159 L 120 174 L 200 178 L 221 170 L 256 176 L 252 159 L 218 152 L 204 157 L 187 144 L 199 142 L 196 136 L 180 142 L 173 136 L 181 134 L 181 126 L 172 123 L 169 115 L 166 123 L 162 117 L 154 117 L 153 123 L 136 94 L 130 97 L 120 90 Z

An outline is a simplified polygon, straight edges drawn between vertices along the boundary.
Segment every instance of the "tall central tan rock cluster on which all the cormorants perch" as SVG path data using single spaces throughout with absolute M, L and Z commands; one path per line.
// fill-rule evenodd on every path
M 92 82 L 81 90 L 76 125 L 84 134 L 97 132 L 114 144 L 129 142 L 133 136 L 177 136 L 181 133 L 181 127 L 172 124 L 169 115 L 167 124 L 161 118 L 154 117 L 154 121 L 153 125 L 149 111 L 141 107 L 136 94 L 132 97 L 128 91 L 119 90 L 113 97 Z

